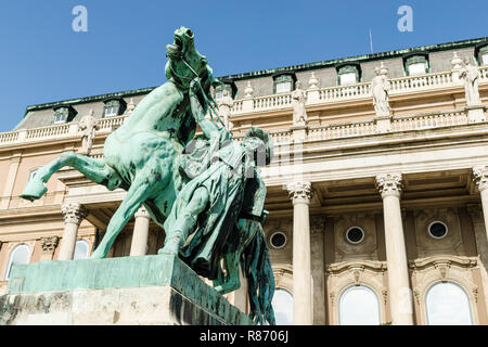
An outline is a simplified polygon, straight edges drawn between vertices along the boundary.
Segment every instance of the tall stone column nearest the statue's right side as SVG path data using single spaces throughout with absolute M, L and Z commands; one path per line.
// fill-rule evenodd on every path
M 293 201 L 293 324 L 313 324 L 310 266 L 310 182 L 286 185 Z

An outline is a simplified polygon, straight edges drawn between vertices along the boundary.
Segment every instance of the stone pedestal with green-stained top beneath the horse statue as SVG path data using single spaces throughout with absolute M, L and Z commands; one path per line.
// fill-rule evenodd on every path
M 0 324 L 248 325 L 179 258 L 157 255 L 14 266 Z

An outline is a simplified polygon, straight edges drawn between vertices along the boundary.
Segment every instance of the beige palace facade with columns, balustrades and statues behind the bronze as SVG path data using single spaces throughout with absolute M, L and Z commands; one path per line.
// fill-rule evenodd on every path
M 265 223 L 279 323 L 488 324 L 488 38 L 220 77 L 234 138 L 268 130 Z M 0 293 L 12 265 L 89 257 L 125 196 L 64 168 L 152 88 L 27 107 L 0 133 Z M 91 118 L 90 118 L 91 117 Z M 111 257 L 156 254 L 141 208 Z M 228 299 L 248 310 L 242 287 Z

